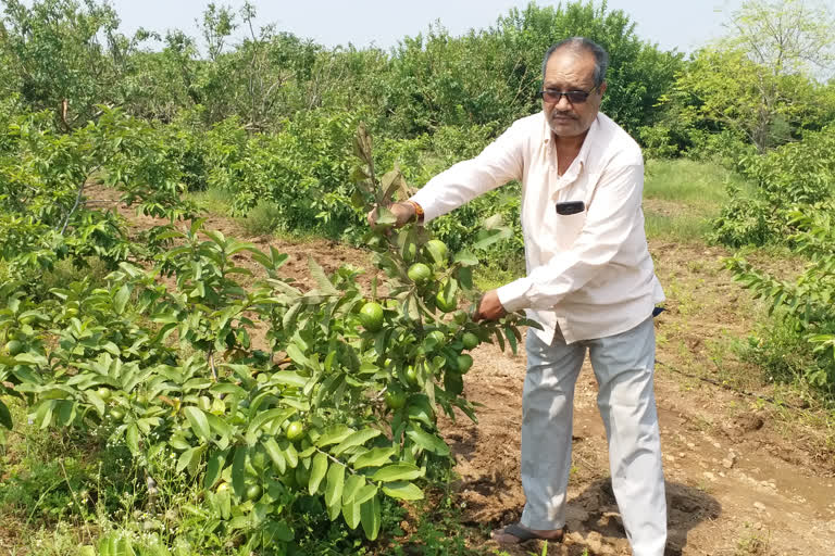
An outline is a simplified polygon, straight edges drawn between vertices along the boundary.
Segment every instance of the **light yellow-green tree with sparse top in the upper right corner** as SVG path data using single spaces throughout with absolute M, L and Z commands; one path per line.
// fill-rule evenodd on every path
M 699 51 L 663 101 L 678 124 L 727 131 L 763 152 L 821 129 L 835 113 L 819 77 L 831 67 L 835 20 L 805 0 L 751 1 L 735 12 L 731 35 Z

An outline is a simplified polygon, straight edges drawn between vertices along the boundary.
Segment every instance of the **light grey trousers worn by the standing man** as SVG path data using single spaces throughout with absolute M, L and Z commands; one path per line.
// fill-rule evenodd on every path
M 626 535 L 635 556 L 663 556 L 666 501 L 652 389 L 652 318 L 632 330 L 571 345 L 559 332 L 550 345 L 528 332 L 526 350 L 522 486 L 527 502 L 522 525 L 536 530 L 565 525 L 574 386 L 588 350 L 609 439 L 612 489 Z

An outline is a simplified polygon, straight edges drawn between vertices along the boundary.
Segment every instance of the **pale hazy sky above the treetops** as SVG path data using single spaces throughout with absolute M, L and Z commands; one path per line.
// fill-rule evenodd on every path
M 743 0 L 609 0 L 609 10 L 623 10 L 636 23 L 644 40 L 664 50 L 691 52 L 723 33 L 727 21 Z M 29 3 L 29 2 L 26 2 Z M 199 36 L 195 23 L 208 0 L 110 0 L 122 20 L 123 33 L 139 27 L 164 34 L 182 29 Z M 216 0 L 237 11 L 244 0 Z M 310 38 L 327 47 L 362 48 L 374 45 L 388 50 L 399 39 L 415 36 L 440 21 L 451 35 L 471 28 L 486 28 L 511 8 L 524 8 L 528 0 L 251 0 L 259 25 L 274 23 L 277 30 Z M 559 2 L 540 0 L 538 5 Z M 595 2 L 599 5 L 599 1 Z M 242 33 L 242 29 L 239 30 Z M 242 35 L 238 34 L 238 37 Z

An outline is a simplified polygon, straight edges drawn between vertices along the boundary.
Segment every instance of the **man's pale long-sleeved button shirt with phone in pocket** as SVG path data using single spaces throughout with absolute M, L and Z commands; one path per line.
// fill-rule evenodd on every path
M 644 160 L 618 124 L 598 114 L 563 176 L 544 113 L 516 121 L 475 159 L 432 178 L 412 200 L 424 223 L 511 180 L 522 182 L 527 276 L 498 289 L 511 312 L 525 308 L 550 343 L 634 328 L 664 301 L 644 232 Z M 585 211 L 558 215 L 556 204 L 583 201 Z

